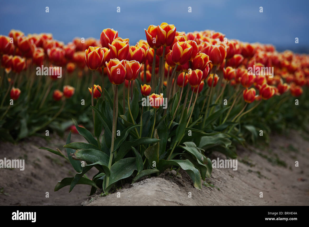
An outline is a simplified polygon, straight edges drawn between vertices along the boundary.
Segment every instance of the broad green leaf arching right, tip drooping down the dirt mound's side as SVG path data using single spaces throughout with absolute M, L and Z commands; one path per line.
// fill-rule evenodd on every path
M 159 161 L 158 167 L 161 173 L 167 168 L 169 168 L 170 166 L 180 166 L 181 169 L 186 170 L 190 178 L 193 180 L 194 187 L 197 188 L 198 190 L 202 189 L 201 174 L 190 161 L 188 160 L 168 160 L 167 161 L 164 159 L 161 159 Z

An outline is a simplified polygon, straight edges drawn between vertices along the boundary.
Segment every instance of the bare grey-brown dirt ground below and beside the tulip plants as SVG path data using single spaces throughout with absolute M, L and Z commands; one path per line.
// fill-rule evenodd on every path
M 269 146 L 238 147 L 238 169 L 213 169 L 201 191 L 192 186 L 184 171 L 176 176 L 173 170 L 119 189 L 120 198 L 117 193 L 95 195 L 83 205 L 309 205 L 309 135 L 295 131 L 287 135 L 271 136 Z M 71 141 L 84 139 L 72 135 Z M 58 137 L 50 142 L 31 138 L 18 145 L 1 143 L 0 159 L 23 158 L 26 166 L 23 171 L 0 169 L 0 205 L 80 205 L 87 200 L 89 186 L 77 185 L 70 193 L 68 187 L 53 191 L 58 180 L 73 176 L 74 169 L 60 157 L 37 148 L 60 149 L 64 143 Z M 225 159 L 221 153 L 210 158 L 217 157 Z M 88 175 L 93 174 L 95 171 Z

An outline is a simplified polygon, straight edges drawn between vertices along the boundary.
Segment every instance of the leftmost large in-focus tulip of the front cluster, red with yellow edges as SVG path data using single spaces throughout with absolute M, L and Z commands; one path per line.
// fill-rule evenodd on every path
M 90 70 L 97 70 L 103 65 L 103 50 L 100 47 L 89 47 L 85 50 L 85 62 Z

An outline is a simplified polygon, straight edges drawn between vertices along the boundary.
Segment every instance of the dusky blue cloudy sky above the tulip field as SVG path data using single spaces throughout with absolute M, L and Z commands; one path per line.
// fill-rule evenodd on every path
M 2 0 L 0 34 L 7 35 L 12 28 L 25 34 L 50 32 L 67 43 L 76 36 L 99 39 L 110 27 L 132 45 L 146 39 L 144 28 L 150 24 L 167 22 L 178 31 L 211 29 L 227 38 L 308 53 L 308 10 L 308 0 Z

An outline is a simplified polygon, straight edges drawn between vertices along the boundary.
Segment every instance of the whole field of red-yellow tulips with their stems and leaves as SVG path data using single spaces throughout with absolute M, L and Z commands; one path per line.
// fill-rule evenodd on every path
M 308 132 L 309 55 L 168 23 L 136 44 L 97 32 L 68 44 L 49 33 L 0 36 L 0 140 L 68 134 L 63 147 L 38 151 L 76 171 L 55 191 L 86 184 L 89 195 L 107 194 L 171 169 L 201 190 L 214 151 L 235 159 L 237 146 L 269 143 L 274 132 Z

